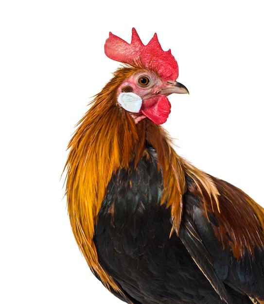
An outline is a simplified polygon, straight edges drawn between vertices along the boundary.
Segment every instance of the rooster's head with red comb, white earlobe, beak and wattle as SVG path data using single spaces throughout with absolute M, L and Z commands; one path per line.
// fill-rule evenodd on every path
M 105 53 L 110 59 L 135 67 L 118 86 L 116 96 L 118 104 L 130 113 L 135 123 L 143 118 L 158 125 L 164 123 L 171 111 L 167 96 L 189 93 L 176 81 L 177 62 L 171 50 L 162 50 L 157 34 L 144 45 L 134 28 L 131 44 L 109 33 Z

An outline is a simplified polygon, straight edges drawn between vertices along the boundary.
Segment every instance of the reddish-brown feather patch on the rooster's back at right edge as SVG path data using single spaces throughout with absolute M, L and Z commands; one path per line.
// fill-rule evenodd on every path
M 264 247 L 264 209 L 239 188 L 211 179 L 220 193 L 220 212 L 215 210 L 214 215 L 221 225 L 214 227 L 215 235 L 223 247 L 232 247 L 236 258 L 244 256 L 245 248 L 253 256 L 255 246 Z M 211 204 L 207 210 L 212 212 Z

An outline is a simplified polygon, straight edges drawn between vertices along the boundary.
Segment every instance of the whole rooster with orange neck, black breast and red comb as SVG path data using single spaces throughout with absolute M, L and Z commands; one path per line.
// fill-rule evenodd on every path
M 264 303 L 264 209 L 180 157 L 160 126 L 188 93 L 157 34 L 110 33 L 123 63 L 69 143 L 73 234 L 94 275 L 131 304 Z

